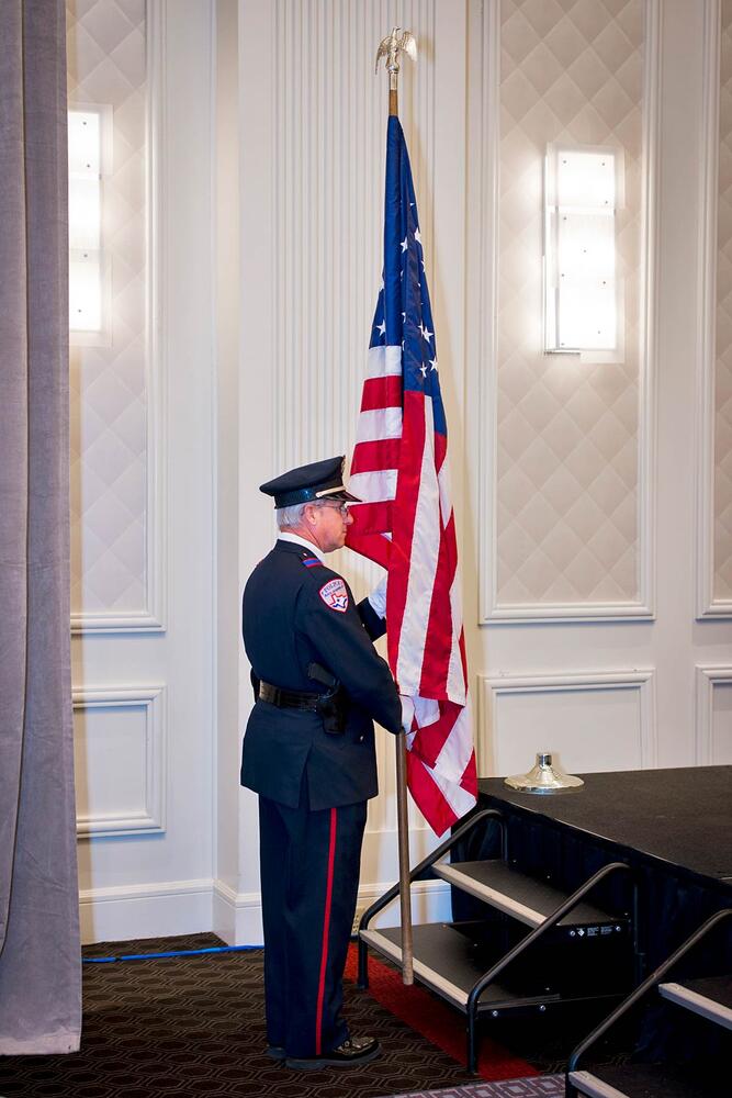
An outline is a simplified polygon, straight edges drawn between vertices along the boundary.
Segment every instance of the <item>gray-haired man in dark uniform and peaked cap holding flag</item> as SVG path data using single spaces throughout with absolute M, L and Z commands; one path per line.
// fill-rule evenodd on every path
M 280 536 L 243 608 L 257 701 L 241 784 L 259 794 L 268 1052 L 303 1069 L 356 1066 L 380 1051 L 375 1038 L 350 1035 L 341 979 L 367 800 L 378 792 L 373 721 L 392 732 L 402 722 L 372 643 L 385 631 L 384 593 L 357 606 L 324 563 L 344 546 L 357 502 L 342 468 L 331 458 L 261 485 Z

